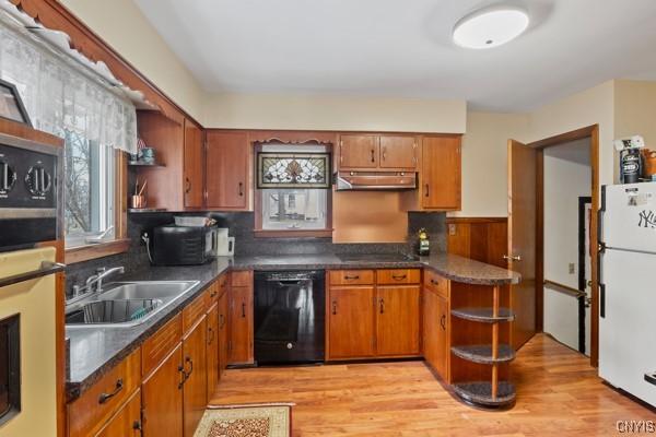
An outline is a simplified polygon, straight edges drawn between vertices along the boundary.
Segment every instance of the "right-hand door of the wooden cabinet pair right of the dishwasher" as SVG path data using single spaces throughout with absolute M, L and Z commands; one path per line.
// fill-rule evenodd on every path
M 378 286 L 376 298 L 376 355 L 419 355 L 419 285 Z

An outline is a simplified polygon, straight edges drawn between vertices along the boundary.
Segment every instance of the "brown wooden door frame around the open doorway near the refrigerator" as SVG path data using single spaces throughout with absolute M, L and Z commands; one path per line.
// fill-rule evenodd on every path
M 599 125 L 591 125 L 572 130 L 543 140 L 528 143 L 527 145 L 538 151 L 537 168 L 537 223 L 536 223 L 536 330 L 541 332 L 544 327 L 544 149 L 569 143 L 575 140 L 590 140 L 590 174 L 591 174 L 591 217 L 590 217 L 590 247 L 599 247 L 598 216 L 599 211 Z M 597 249 L 595 249 L 597 250 Z M 595 255 L 595 253 L 593 253 Z M 590 259 L 590 279 L 593 281 L 590 308 L 590 364 L 594 367 L 599 363 L 599 279 L 598 257 Z

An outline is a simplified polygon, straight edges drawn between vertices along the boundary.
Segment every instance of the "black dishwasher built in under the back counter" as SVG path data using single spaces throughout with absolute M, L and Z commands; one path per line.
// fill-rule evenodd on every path
M 255 361 L 324 361 L 325 272 L 255 272 Z

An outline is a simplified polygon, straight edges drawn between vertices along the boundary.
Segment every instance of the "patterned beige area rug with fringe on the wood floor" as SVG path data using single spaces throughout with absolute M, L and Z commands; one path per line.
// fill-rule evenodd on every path
M 210 406 L 194 437 L 291 437 L 291 404 Z

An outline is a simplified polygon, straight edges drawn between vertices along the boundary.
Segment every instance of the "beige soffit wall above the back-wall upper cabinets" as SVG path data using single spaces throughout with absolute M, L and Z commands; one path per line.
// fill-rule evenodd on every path
M 213 94 L 203 122 L 208 128 L 461 133 L 466 118 L 465 101 Z

